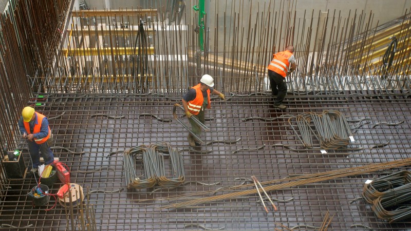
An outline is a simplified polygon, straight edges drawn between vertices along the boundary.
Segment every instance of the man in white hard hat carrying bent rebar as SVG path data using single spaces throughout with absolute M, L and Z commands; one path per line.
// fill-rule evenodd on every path
M 210 93 L 218 95 L 222 100 L 226 100 L 223 93 L 213 88 L 214 79 L 209 74 L 204 74 L 201 77 L 200 83 L 192 87 L 187 93 L 184 94 L 182 101 L 183 108 L 186 117 L 189 118 L 191 123 L 191 130 L 196 136 L 201 133 L 201 128 L 198 126 L 191 117 L 196 117 L 201 123 L 205 123 L 204 109 L 211 108 Z M 188 136 L 189 144 L 192 147 L 200 145 L 197 140 L 190 133 Z

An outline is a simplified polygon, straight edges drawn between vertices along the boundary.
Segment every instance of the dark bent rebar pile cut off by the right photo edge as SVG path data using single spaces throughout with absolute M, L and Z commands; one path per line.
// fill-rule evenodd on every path
M 411 172 L 400 171 L 364 185 L 363 198 L 389 223 L 411 217 Z

